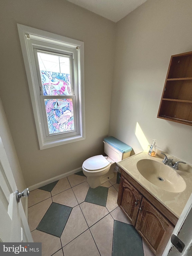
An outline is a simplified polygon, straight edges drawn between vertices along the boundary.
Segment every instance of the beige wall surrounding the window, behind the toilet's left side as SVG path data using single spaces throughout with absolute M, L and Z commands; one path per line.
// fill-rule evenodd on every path
M 1 1 L 0 95 L 27 186 L 81 167 L 103 153 L 109 129 L 115 23 L 65 0 Z M 16 23 L 85 45 L 86 139 L 39 150 Z

